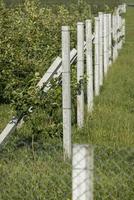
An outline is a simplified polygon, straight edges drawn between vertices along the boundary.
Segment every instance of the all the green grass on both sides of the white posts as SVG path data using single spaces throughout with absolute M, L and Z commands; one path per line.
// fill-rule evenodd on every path
M 96 144 L 96 200 L 133 199 L 133 18 L 134 10 L 129 8 L 124 49 L 109 70 L 84 128 L 73 131 L 73 142 Z M 1 105 L 0 111 L 2 129 L 12 111 L 6 105 Z M 28 135 L 28 128 L 25 125 L 18 130 L 19 134 L 16 132 L 0 152 L 0 200 L 71 200 L 71 165 L 64 162 L 62 146 L 48 145 L 45 138 L 34 141 Z

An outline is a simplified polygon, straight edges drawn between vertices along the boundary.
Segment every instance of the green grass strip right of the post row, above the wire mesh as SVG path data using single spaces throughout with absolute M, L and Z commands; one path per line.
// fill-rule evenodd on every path
M 95 109 L 75 142 L 134 145 L 134 9 L 128 8 L 126 44 L 109 70 Z

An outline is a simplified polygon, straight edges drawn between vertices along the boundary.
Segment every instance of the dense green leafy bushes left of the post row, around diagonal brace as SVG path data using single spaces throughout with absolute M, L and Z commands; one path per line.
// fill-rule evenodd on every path
M 61 54 L 61 26 L 71 26 L 71 47 L 75 47 L 76 22 L 89 18 L 90 14 L 90 6 L 84 1 L 67 8 L 64 5 L 41 7 L 36 0 L 25 0 L 21 6 L 6 8 L 1 2 L 1 102 L 11 103 L 17 115 L 34 107 L 33 121 L 35 113 L 44 109 L 47 124 L 51 121 L 50 128 L 46 128 L 50 135 L 56 126 L 61 127 L 61 86 L 55 84 L 58 80 L 53 81 L 52 89 L 46 94 L 39 91 L 36 84 Z M 76 87 L 73 80 L 72 85 Z M 59 116 L 56 113 L 60 113 Z M 33 124 L 31 122 L 33 133 L 37 133 L 38 126 L 35 130 Z M 61 128 L 58 130 L 61 134 Z

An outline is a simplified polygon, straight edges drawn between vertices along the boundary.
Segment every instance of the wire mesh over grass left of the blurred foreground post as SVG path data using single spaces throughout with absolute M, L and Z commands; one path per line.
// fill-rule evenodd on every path
M 70 200 L 71 162 L 62 146 L 18 145 L 0 152 L 0 200 Z

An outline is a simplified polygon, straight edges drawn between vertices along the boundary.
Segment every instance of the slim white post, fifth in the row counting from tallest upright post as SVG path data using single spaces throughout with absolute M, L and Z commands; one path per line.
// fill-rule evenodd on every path
M 99 55 L 100 55 L 100 59 L 99 59 L 99 64 L 100 64 L 100 86 L 103 85 L 103 73 L 104 73 L 104 69 L 103 69 L 103 38 L 104 38 L 104 31 L 103 31 L 103 23 L 104 23 L 104 16 L 103 16 L 103 12 L 99 12 L 99 20 L 100 20 L 100 29 L 99 29 L 99 41 L 100 41 L 100 45 L 99 45 Z

